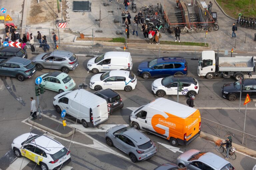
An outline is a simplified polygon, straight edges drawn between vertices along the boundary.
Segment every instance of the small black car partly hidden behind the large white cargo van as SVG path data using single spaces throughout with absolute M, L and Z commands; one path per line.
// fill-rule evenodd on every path
M 114 111 L 124 107 L 122 98 L 112 89 L 96 91 L 94 94 L 107 101 L 109 113 L 113 113 Z

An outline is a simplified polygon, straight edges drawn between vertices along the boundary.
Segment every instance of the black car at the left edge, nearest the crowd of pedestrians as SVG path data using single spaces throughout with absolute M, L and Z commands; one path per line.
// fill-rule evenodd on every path
M 0 59 L 7 59 L 10 57 L 28 58 L 28 55 L 21 48 L 16 48 L 11 46 L 0 48 Z

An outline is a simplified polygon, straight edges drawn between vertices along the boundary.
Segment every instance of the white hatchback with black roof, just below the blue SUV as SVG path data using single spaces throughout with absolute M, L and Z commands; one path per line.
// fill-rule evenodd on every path
M 152 83 L 152 91 L 158 97 L 165 95 L 177 95 L 178 81 L 182 83 L 182 91 L 179 95 L 187 95 L 188 97 L 196 96 L 199 93 L 199 84 L 197 80 L 190 76 L 174 75 L 165 78 L 156 79 Z

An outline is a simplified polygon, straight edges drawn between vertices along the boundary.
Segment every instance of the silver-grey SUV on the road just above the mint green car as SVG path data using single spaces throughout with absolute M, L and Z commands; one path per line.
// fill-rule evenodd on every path
M 74 70 L 78 66 L 78 57 L 69 51 L 44 52 L 34 56 L 31 60 L 35 62 L 38 71 L 43 68 L 51 68 L 68 73 L 69 70 Z

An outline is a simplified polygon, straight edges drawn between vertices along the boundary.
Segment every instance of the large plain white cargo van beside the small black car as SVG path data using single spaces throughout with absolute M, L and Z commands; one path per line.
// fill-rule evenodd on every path
M 59 114 L 66 110 L 85 128 L 98 126 L 109 118 L 106 100 L 83 89 L 58 94 L 53 105 Z

